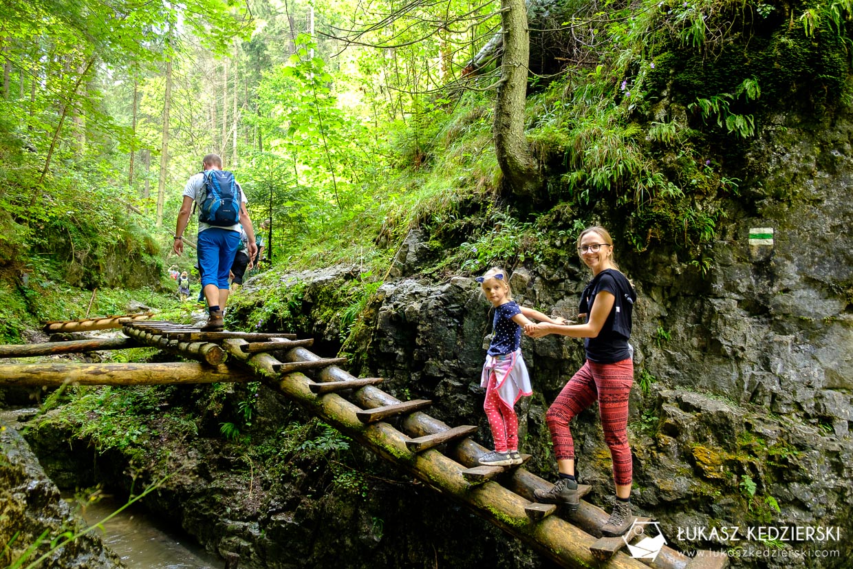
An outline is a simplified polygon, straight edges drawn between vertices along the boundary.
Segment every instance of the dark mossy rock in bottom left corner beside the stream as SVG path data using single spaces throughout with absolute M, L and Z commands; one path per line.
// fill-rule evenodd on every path
M 15 561 L 32 544 L 40 543 L 27 558 L 27 563 L 32 562 L 48 553 L 51 539 L 84 527 L 45 475 L 26 441 L 0 422 L 0 543 L 9 544 L 0 562 Z M 39 566 L 113 569 L 125 564 L 90 532 L 51 551 Z

